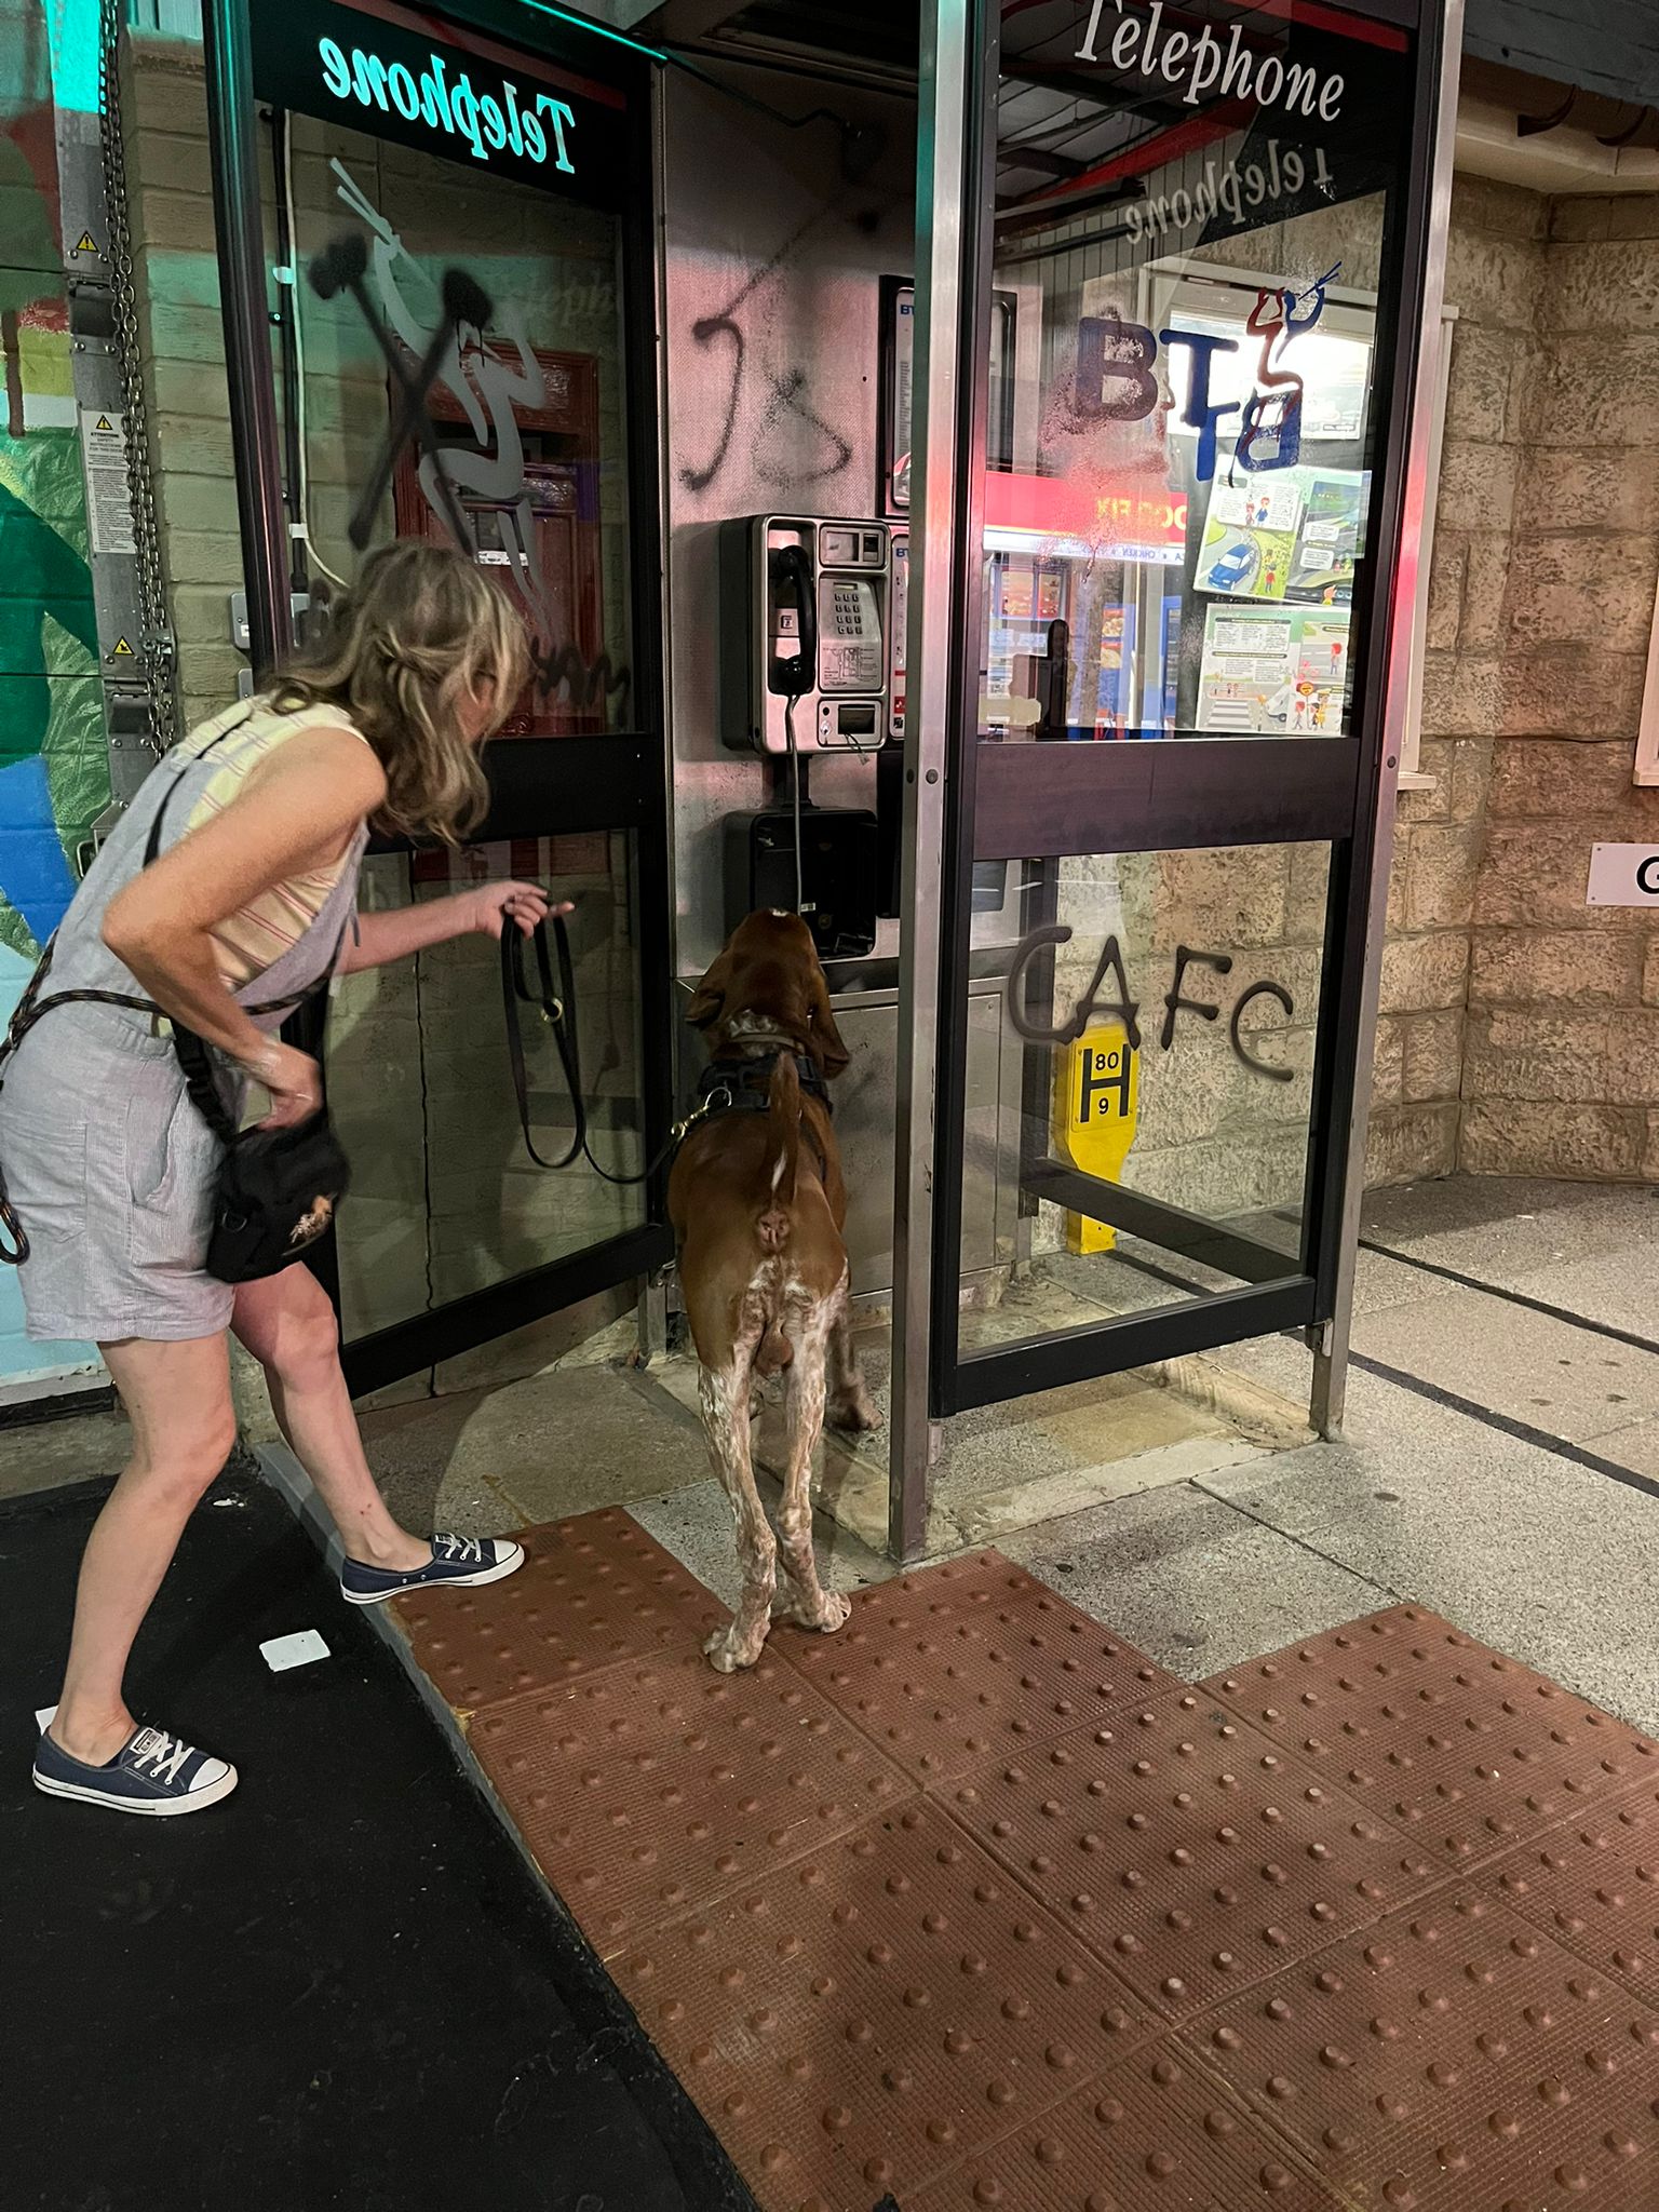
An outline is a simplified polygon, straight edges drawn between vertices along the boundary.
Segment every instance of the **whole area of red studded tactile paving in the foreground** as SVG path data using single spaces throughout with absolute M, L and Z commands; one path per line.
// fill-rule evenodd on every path
M 995 1553 L 721 1677 L 626 1515 L 529 1548 L 414 1655 L 763 2212 L 1659 2212 L 1659 1745 L 1544 1677 L 1190 1690 Z

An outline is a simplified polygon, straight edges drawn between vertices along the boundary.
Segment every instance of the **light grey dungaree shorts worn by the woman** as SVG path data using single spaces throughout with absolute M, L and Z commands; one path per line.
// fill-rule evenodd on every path
M 237 708 L 206 723 L 186 739 L 190 759 L 173 754 L 144 781 L 64 916 L 42 998 L 86 989 L 137 993 L 104 945 L 104 909 L 144 865 L 161 801 L 168 801 L 161 843 L 170 845 L 226 759 L 223 750 L 195 757 L 195 745 L 248 719 Z M 327 971 L 352 920 L 365 843 L 367 832 L 299 942 L 237 993 L 243 1004 L 290 998 Z M 268 1031 L 281 1026 L 281 1015 L 257 1020 Z M 230 1091 L 226 1071 L 228 1097 Z M 179 1343 L 230 1325 L 232 1290 L 201 1265 L 219 1144 L 190 1104 L 173 1040 L 157 1035 L 150 1015 L 69 1004 L 40 1018 L 0 1066 L 0 1170 L 31 1245 L 20 1270 L 31 1338 Z

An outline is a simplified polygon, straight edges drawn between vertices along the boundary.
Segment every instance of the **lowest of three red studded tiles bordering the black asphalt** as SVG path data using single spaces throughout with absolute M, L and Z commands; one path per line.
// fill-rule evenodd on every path
M 692 1913 L 611 1966 L 765 2212 L 911 2192 L 1155 2033 L 936 1805 Z

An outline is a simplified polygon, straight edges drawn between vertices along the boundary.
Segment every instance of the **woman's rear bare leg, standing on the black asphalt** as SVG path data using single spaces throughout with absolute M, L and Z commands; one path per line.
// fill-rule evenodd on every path
M 201 1493 L 230 1458 L 237 1418 L 223 1332 L 184 1345 L 104 1345 L 133 1422 L 133 1458 L 86 1540 L 53 1739 L 104 1765 L 133 1734 L 126 1655 Z

